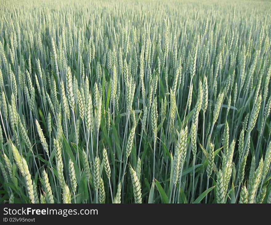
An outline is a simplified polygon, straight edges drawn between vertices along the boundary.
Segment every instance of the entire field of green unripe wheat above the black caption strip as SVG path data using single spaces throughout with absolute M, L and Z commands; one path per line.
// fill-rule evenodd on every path
M 0 12 L 1 202 L 270 203 L 270 2 Z

